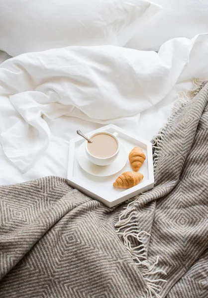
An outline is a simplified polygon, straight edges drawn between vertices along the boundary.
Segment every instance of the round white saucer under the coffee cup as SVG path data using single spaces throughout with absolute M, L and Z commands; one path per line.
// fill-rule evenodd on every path
M 96 165 L 88 159 L 84 142 L 78 150 L 77 159 L 80 166 L 87 173 L 94 176 L 106 177 L 119 172 L 124 167 L 127 161 L 127 154 L 123 145 L 120 143 L 118 156 L 111 164 L 105 166 Z

